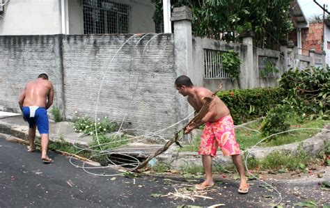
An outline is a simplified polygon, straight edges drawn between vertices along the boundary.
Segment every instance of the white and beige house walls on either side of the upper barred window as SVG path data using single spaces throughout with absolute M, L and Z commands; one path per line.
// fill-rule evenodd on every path
M 83 0 L 68 1 L 69 34 L 84 33 Z M 112 0 L 129 5 L 129 33 L 155 33 L 150 0 Z M 0 35 L 62 33 L 61 0 L 10 0 L 0 17 Z

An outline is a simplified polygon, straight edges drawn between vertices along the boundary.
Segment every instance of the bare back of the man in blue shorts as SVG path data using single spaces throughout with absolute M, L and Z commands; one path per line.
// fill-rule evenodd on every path
M 22 106 L 39 106 L 46 109 L 52 105 L 54 88 L 51 81 L 37 79 L 26 84 L 25 89 L 19 96 L 19 104 Z

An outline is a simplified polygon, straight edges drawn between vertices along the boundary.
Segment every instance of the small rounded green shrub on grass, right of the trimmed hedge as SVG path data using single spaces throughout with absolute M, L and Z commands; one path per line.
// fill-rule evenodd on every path
M 262 121 L 261 133 L 263 136 L 269 136 L 282 131 L 288 131 L 290 128 L 290 106 L 278 105 L 270 109 L 265 119 Z

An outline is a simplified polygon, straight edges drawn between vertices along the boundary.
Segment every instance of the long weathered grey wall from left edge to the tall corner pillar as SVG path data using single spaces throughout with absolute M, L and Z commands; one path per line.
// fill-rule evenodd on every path
M 19 112 L 20 91 L 45 72 L 54 84 L 53 107 L 66 119 L 75 111 L 94 118 L 98 106 L 97 118 L 125 118 L 125 128 L 136 134 L 168 127 L 178 121 L 180 97 L 173 35 L 155 35 L 0 36 L 0 110 Z

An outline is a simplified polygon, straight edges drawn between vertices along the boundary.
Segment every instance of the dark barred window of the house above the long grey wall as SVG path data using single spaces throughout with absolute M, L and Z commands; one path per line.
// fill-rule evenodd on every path
M 128 33 L 129 6 L 109 0 L 84 0 L 84 34 Z

